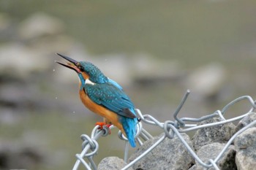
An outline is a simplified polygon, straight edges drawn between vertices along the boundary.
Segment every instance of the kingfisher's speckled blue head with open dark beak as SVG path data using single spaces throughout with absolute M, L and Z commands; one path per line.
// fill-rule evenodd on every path
M 60 63 L 59 61 L 56 61 L 56 63 L 59 63 L 62 66 L 66 66 L 67 68 L 77 72 L 78 77 L 82 83 L 86 80 L 91 80 L 91 82 L 94 83 L 104 83 L 108 81 L 108 78 L 105 77 L 105 75 L 97 68 L 97 66 L 94 66 L 94 64 L 87 61 L 75 61 L 74 59 L 59 53 L 57 53 L 57 55 L 66 59 L 69 61 L 69 63 Z

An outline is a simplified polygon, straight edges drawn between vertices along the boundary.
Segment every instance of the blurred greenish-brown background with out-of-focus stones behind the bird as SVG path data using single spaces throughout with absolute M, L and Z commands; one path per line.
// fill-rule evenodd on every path
M 0 1 L 0 169 L 72 169 L 94 115 L 55 53 L 91 61 L 160 121 L 255 97 L 256 1 Z M 247 112 L 245 102 L 227 117 Z M 152 134 L 160 130 L 147 126 Z M 122 157 L 117 130 L 96 162 Z M 81 168 L 82 169 L 82 168 Z

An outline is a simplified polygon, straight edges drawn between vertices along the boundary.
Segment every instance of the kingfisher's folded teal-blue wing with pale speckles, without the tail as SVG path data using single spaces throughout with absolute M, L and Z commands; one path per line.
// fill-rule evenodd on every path
M 95 103 L 116 112 L 118 115 L 135 118 L 134 105 L 123 90 L 111 82 L 104 84 L 86 84 L 85 90 Z

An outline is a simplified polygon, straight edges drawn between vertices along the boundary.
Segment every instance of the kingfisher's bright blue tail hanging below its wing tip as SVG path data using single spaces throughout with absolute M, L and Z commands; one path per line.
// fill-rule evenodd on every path
M 121 124 L 123 125 L 125 134 L 127 135 L 129 144 L 131 144 L 132 147 L 136 147 L 135 135 L 136 135 L 137 123 L 138 123 L 137 117 L 136 118 L 129 118 L 129 117 L 123 117 L 123 116 L 121 117 Z

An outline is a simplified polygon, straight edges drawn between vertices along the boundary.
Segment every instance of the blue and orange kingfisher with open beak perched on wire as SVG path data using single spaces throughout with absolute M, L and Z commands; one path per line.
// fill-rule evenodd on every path
M 121 85 L 106 77 L 97 66 L 88 61 L 75 61 L 65 55 L 57 53 L 67 63 L 61 64 L 74 70 L 79 77 L 79 95 L 83 104 L 92 112 L 104 117 L 103 123 L 96 123 L 101 128 L 103 125 L 115 125 L 127 136 L 129 144 L 136 147 L 135 134 L 137 131 L 138 117 L 135 106 L 129 96 L 124 93 Z

